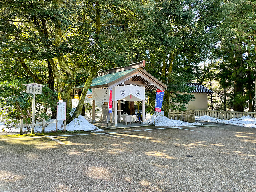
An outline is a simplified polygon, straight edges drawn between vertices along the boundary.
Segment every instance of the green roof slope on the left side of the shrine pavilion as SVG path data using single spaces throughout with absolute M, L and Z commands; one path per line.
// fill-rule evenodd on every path
M 101 76 L 97 76 L 92 80 L 92 84 L 91 86 L 100 86 L 100 85 L 105 85 L 108 84 L 112 81 L 115 81 L 116 79 L 134 71 L 136 68 L 134 69 L 129 69 L 126 71 L 119 71 L 119 72 L 115 72 L 115 73 L 110 73 L 110 74 L 106 74 L 106 75 L 101 75 Z M 79 86 L 74 87 L 75 89 L 77 88 L 83 88 L 84 84 L 81 84 Z

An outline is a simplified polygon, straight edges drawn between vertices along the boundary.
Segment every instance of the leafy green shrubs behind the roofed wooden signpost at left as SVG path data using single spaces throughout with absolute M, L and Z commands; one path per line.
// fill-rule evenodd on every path
M 27 124 L 31 123 L 33 95 L 27 94 L 26 87 L 22 84 L 17 80 L 0 83 L 0 89 L 5 90 L 0 93 L 0 107 L 2 108 L 0 116 L 5 122 L 10 122 L 10 119 L 22 118 Z M 49 119 L 46 109 L 53 109 L 57 105 L 56 94 L 48 87 L 43 87 L 42 94 L 36 94 L 35 120 Z M 15 120 L 13 122 L 15 123 Z

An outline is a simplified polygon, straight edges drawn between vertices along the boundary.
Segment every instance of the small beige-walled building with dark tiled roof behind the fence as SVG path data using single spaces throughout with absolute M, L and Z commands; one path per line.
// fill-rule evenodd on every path
M 199 83 L 187 83 L 188 86 L 194 87 L 192 94 L 195 96 L 194 101 L 190 101 L 188 110 L 207 110 L 208 108 L 208 94 L 213 92 Z

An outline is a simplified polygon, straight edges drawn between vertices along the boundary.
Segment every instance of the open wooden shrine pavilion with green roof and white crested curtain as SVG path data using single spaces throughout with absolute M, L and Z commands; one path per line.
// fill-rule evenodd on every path
M 112 89 L 112 118 L 110 122 L 117 126 L 117 113 L 121 111 L 121 100 L 124 101 L 141 101 L 142 102 L 142 122 L 145 122 L 145 91 L 164 90 L 167 85 L 149 74 L 145 69 L 145 60 L 132 63 L 127 67 L 112 68 L 106 71 L 98 72 L 98 76 L 92 80 L 90 89 L 92 89 L 92 121 L 95 122 L 95 100 L 101 102 L 109 101 L 109 90 Z M 84 84 L 74 87 L 77 92 L 81 91 Z M 105 116 L 108 113 L 106 106 Z M 102 108 L 102 114 L 104 113 Z M 107 120 L 108 117 L 106 117 Z M 120 118 L 120 117 L 119 117 Z

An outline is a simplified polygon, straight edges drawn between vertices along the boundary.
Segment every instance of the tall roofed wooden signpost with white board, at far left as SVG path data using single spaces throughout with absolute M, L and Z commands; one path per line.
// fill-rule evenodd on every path
M 24 84 L 24 85 L 27 87 L 27 94 L 33 94 L 31 134 L 34 134 L 36 94 L 42 94 L 42 87 L 45 87 L 45 85 L 41 85 L 38 83 L 29 83 L 29 84 Z

